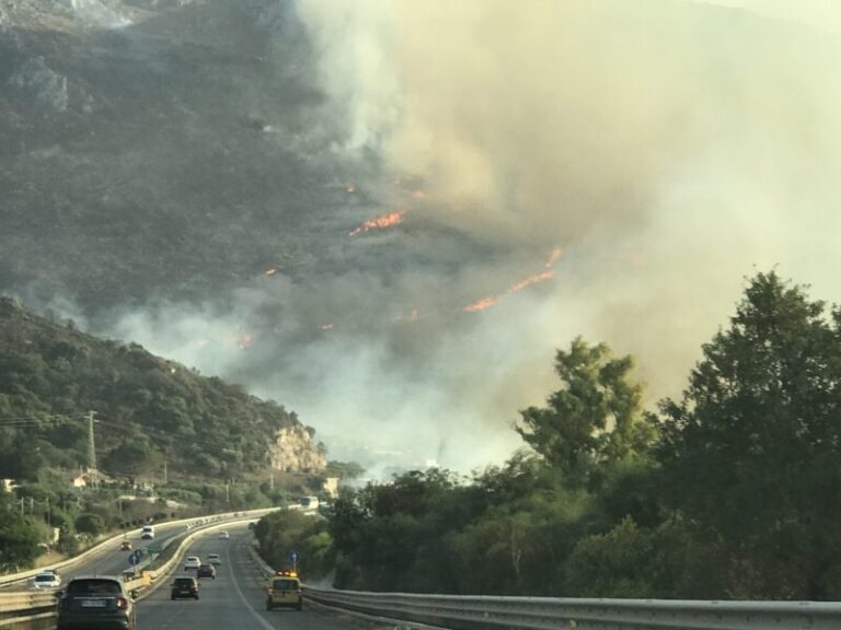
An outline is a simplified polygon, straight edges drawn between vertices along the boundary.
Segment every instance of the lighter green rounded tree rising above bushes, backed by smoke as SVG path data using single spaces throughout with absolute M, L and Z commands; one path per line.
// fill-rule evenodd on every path
M 630 355 L 613 359 L 606 345 L 577 337 L 555 355 L 561 389 L 546 407 L 521 411 L 517 432 L 574 483 L 597 463 L 644 451 L 652 432 L 641 416 L 642 386 L 629 381 L 632 370 Z

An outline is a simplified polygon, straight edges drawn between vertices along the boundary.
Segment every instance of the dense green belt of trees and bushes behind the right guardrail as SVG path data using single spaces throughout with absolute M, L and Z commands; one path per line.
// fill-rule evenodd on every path
M 546 407 L 522 411 L 531 453 L 470 479 L 433 469 L 346 491 L 321 552 L 335 585 L 838 598 L 841 311 L 760 273 L 679 400 L 643 413 L 632 365 L 576 339 Z M 313 535 L 274 525 L 261 536 L 275 558 Z

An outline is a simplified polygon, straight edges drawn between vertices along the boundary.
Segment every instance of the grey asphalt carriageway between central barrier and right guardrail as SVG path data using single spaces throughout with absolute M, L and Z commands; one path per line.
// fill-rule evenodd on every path
M 178 575 L 194 575 L 178 570 L 151 595 L 138 602 L 138 630 L 346 630 L 349 620 L 303 610 L 266 610 L 266 579 L 249 556 L 251 534 L 245 527 L 231 528 L 231 539 L 220 540 L 216 533 L 196 540 L 186 555 L 205 558 L 219 553 L 216 580 L 203 579 L 199 599 L 170 599 L 170 584 Z

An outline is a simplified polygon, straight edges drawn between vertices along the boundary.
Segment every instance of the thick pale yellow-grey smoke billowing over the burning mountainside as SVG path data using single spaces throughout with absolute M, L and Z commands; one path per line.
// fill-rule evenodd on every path
M 650 402 L 680 392 L 754 270 L 841 294 L 838 39 L 668 0 L 298 11 L 338 151 L 382 164 L 354 184 L 404 223 L 342 234 L 332 275 L 116 330 L 288 404 L 333 457 L 499 460 L 576 335 L 634 353 Z M 556 248 L 554 277 L 510 291 Z

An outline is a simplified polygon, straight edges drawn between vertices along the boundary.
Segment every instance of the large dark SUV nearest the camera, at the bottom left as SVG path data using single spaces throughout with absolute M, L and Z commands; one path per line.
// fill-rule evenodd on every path
M 73 578 L 59 593 L 58 630 L 135 630 L 136 593 L 116 575 Z

